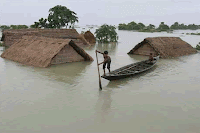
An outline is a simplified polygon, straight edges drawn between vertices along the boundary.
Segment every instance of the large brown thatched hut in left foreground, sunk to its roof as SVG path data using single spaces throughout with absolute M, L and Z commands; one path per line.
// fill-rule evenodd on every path
M 6 49 L 2 58 L 22 64 L 48 67 L 76 61 L 93 61 L 82 48 L 71 39 L 58 39 L 37 36 L 23 36 Z

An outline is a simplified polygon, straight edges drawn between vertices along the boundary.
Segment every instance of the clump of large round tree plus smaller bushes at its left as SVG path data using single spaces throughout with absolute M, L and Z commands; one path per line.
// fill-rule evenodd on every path
M 67 7 L 57 5 L 49 9 L 49 16 L 47 19 L 39 19 L 39 22 L 34 22 L 31 28 L 74 28 L 74 24 L 78 22 L 78 17 L 76 15 L 74 11 L 71 11 Z

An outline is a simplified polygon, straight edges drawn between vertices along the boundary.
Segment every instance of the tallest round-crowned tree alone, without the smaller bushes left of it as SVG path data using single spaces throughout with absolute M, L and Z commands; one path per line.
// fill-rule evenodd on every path
M 57 5 L 49 9 L 49 27 L 50 28 L 71 28 L 75 22 L 78 22 L 77 14 L 65 6 Z

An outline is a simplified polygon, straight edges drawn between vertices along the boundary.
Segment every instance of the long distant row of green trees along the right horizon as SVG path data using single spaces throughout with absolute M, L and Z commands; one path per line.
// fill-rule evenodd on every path
M 143 23 L 136 23 L 134 21 L 128 23 L 128 24 L 119 24 L 118 26 L 119 30 L 138 30 L 138 31 L 168 31 L 168 30 L 197 30 L 200 29 L 200 25 L 195 24 L 179 24 L 178 22 L 175 22 L 171 26 L 168 26 L 164 22 L 161 22 L 160 25 L 156 28 L 155 25 L 149 24 L 148 26 L 144 25 Z

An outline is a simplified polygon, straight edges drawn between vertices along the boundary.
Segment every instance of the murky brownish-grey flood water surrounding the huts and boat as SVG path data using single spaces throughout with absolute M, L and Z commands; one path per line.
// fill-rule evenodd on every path
M 0 58 L 0 133 L 200 133 L 199 53 L 160 59 L 148 72 L 98 86 L 96 49 L 108 50 L 113 70 L 147 59 L 127 55 L 146 37 L 200 42 L 182 32 L 189 31 L 118 31 L 118 44 L 84 48 L 93 62 L 36 68 Z

